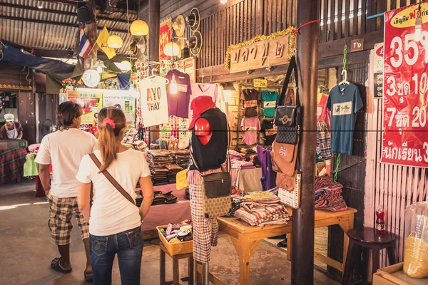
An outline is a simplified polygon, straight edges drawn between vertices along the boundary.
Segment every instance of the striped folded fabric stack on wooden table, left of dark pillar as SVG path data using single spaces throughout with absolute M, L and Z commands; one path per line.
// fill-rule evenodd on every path
M 243 202 L 234 214 L 251 226 L 264 227 L 272 224 L 287 224 L 290 215 L 282 204 Z

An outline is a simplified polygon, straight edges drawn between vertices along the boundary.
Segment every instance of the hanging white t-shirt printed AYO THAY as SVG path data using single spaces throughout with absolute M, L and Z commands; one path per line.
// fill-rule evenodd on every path
M 140 104 L 145 127 L 168 123 L 166 80 L 151 76 L 140 81 Z

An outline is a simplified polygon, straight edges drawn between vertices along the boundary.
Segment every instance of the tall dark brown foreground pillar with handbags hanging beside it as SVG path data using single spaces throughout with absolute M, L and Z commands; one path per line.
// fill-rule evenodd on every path
M 300 0 L 297 27 L 320 19 L 319 0 Z M 299 160 L 302 168 L 300 209 L 292 213 L 291 284 L 314 283 L 315 147 L 317 141 L 317 80 L 320 24 L 309 24 L 297 35 L 297 68 L 302 103 Z

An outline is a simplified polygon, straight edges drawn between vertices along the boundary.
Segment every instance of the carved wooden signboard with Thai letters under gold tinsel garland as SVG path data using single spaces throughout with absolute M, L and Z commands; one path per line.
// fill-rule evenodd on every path
M 285 35 L 233 49 L 230 51 L 230 73 L 289 63 L 289 42 L 290 35 Z

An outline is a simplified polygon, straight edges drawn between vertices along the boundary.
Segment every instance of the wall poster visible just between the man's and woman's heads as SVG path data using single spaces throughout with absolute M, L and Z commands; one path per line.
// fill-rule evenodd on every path
M 78 103 L 83 108 L 81 130 L 88 132 L 96 126 L 98 112 L 103 108 L 103 93 L 67 90 L 67 100 Z

